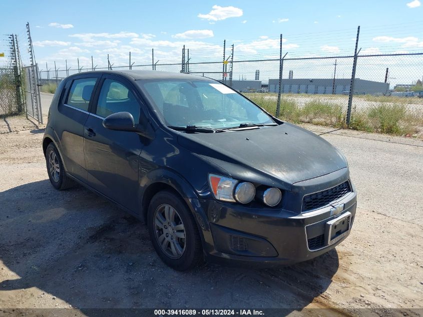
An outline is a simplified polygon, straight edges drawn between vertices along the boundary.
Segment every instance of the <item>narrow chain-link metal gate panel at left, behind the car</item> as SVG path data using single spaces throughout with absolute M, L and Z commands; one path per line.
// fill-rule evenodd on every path
M 43 123 L 40 98 L 40 80 L 38 78 L 38 64 L 23 68 L 25 74 L 25 109 L 27 115 L 38 123 Z

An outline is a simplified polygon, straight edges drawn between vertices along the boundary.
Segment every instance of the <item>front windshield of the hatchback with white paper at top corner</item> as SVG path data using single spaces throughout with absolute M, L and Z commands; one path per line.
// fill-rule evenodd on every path
M 234 128 L 274 121 L 248 99 L 212 81 L 139 80 L 157 113 L 172 127 Z

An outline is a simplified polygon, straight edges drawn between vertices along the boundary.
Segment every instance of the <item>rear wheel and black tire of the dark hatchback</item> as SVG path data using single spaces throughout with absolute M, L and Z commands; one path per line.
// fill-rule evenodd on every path
M 75 183 L 66 175 L 59 151 L 53 142 L 50 143 L 46 149 L 46 165 L 50 182 L 54 188 L 63 190 L 75 185 Z

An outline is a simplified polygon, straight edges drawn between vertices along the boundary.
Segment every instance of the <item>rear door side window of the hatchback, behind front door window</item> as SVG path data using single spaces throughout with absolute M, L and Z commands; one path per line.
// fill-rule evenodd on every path
M 88 111 L 88 105 L 93 95 L 96 78 L 83 78 L 73 81 L 66 104 Z

